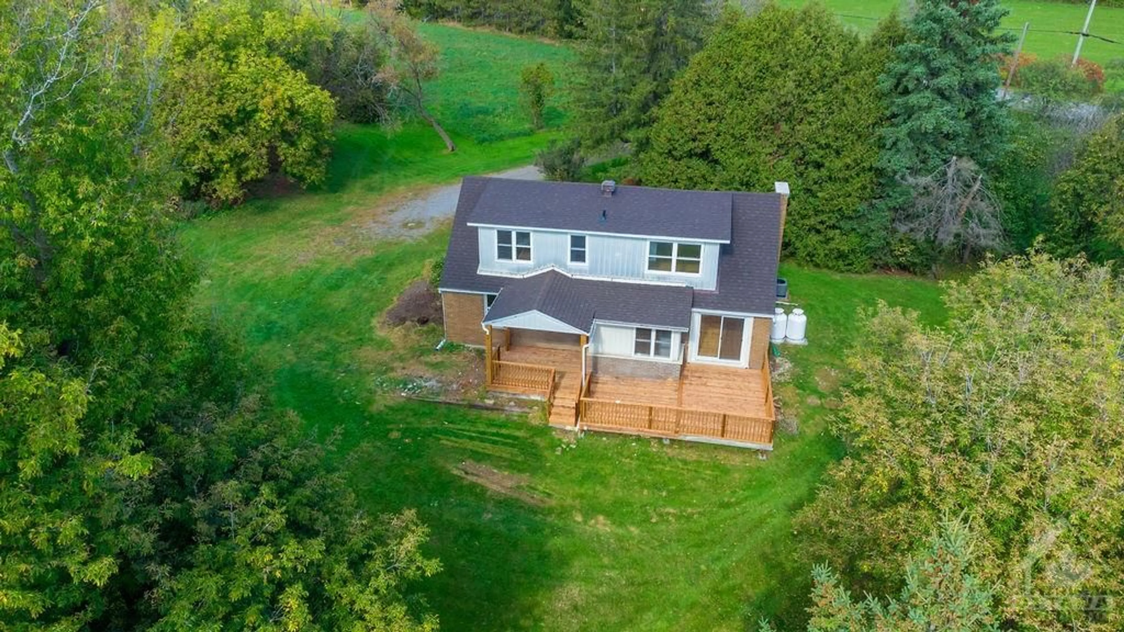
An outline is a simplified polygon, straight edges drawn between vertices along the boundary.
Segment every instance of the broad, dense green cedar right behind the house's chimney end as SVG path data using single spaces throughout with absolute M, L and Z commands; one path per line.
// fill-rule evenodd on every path
M 868 269 L 888 228 L 864 204 L 885 114 L 874 80 L 892 31 L 863 43 L 818 6 L 731 10 L 656 111 L 644 183 L 771 191 L 786 180 L 786 252 Z

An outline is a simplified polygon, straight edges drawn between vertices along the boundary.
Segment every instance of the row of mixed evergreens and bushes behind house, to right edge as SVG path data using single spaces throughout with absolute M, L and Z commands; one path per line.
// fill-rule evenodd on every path
M 834 270 L 930 273 L 1040 240 L 1118 259 L 1118 100 L 1081 105 L 1103 72 L 1052 61 L 1018 71 L 1028 98 L 1001 98 L 1005 13 L 922 1 L 863 38 L 817 4 L 579 4 L 575 138 L 540 164 L 577 179 L 623 145 L 615 173 L 643 184 L 787 180 L 786 255 Z

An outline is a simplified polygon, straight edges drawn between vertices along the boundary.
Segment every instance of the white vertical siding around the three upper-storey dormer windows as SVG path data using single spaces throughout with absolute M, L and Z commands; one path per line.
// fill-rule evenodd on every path
M 531 232 L 532 261 L 497 261 L 496 229 L 478 228 L 480 272 L 524 274 L 555 265 L 571 274 L 605 277 L 618 280 L 664 281 L 686 283 L 700 290 L 713 290 L 718 279 L 719 244 L 703 244 L 699 274 L 676 274 L 647 270 L 649 240 L 609 235 L 588 235 L 586 264 L 570 263 L 570 234 L 551 231 Z M 691 243 L 689 240 L 685 240 Z

